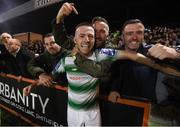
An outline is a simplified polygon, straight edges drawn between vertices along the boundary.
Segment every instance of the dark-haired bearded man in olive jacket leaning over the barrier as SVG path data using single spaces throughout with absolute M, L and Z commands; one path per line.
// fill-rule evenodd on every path
M 44 45 L 46 51 L 28 63 L 28 71 L 34 78 L 38 78 L 41 82 L 49 86 L 52 83 L 49 74 L 51 74 L 57 62 L 68 52 L 55 43 L 54 36 L 51 33 L 44 36 Z M 59 82 L 66 82 L 66 76 L 64 74 L 59 77 Z

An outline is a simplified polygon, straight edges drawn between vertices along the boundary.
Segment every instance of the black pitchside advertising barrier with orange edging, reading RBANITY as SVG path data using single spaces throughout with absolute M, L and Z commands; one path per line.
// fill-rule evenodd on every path
M 23 88 L 36 81 L 11 74 L 0 74 L 0 107 L 33 126 L 67 125 L 67 87 L 38 86 L 28 96 Z M 100 96 L 102 125 L 147 126 L 150 103 L 119 98 L 116 103 Z

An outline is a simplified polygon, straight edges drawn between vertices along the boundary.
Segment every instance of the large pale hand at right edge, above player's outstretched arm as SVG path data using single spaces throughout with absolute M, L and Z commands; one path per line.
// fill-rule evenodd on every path
M 161 44 L 156 44 L 152 46 L 148 50 L 148 54 L 160 60 L 163 60 L 166 58 L 177 59 L 179 57 L 179 53 L 176 52 L 175 49 L 161 45 Z

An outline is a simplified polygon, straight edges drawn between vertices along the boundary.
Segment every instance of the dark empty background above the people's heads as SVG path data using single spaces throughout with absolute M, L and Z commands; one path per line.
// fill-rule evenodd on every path
M 0 0 L 0 14 L 29 0 Z M 51 20 L 56 16 L 62 3 L 42 8 L 25 15 L 0 23 L 0 33 L 11 34 L 51 32 Z M 90 21 L 94 16 L 106 18 L 111 31 L 120 30 L 123 22 L 130 18 L 139 18 L 146 27 L 180 27 L 179 2 L 159 0 L 69 0 L 74 2 L 79 15 L 71 14 L 65 23 L 69 33 L 81 21 Z

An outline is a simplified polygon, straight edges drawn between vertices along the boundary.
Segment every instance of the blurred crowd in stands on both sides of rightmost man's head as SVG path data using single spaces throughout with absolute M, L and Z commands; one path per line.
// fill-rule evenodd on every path
M 121 47 L 123 41 L 121 38 L 121 32 L 119 30 L 113 31 L 110 34 L 110 38 L 113 40 L 114 44 Z M 169 28 L 169 27 L 149 27 L 145 29 L 144 33 L 145 42 L 148 44 L 157 44 L 168 47 L 175 47 L 180 45 L 180 28 Z

